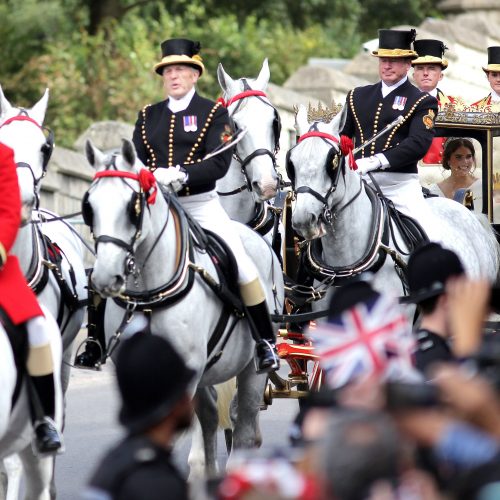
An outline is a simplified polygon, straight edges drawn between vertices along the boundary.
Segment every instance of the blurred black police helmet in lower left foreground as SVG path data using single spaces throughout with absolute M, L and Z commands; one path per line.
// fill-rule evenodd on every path
M 164 338 L 138 332 L 126 339 L 116 360 L 120 422 L 133 434 L 161 422 L 186 394 L 194 374 Z

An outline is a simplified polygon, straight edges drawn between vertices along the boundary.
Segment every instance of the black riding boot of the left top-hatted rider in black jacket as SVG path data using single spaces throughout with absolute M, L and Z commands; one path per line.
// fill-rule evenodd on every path
M 266 302 L 255 306 L 246 306 L 248 321 L 255 335 L 257 373 L 268 373 L 280 367 L 276 353 L 276 335 L 274 333 Z

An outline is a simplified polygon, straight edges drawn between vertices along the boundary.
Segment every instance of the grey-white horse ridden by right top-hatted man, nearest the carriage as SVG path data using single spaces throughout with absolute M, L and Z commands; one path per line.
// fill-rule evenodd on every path
M 289 151 L 287 163 L 296 193 L 293 227 L 310 240 L 304 246 L 306 261 L 326 287 L 376 271 L 376 289 L 403 295 L 396 269 L 401 270 L 407 260 L 398 248 L 406 249 L 398 232 L 387 231 L 377 197 L 349 169 L 347 159 L 341 161 L 342 121 L 343 113 L 339 113 L 330 123 L 309 123 L 305 107 L 299 108 L 300 139 Z M 498 244 L 489 224 L 452 200 L 429 198 L 427 203 L 440 221 L 441 243 L 459 255 L 468 275 L 496 279 Z M 321 249 L 312 241 L 318 238 Z

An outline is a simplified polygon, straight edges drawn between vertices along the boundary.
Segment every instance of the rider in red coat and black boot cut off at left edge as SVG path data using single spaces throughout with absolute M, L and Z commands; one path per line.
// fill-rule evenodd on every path
M 28 337 L 26 368 L 20 369 L 26 369 L 29 375 L 34 450 L 40 454 L 56 453 L 63 443 L 54 422 L 56 393 L 50 327 L 17 257 L 9 255 L 21 224 L 21 199 L 14 153 L 2 143 L 0 167 L 0 320 L 12 334 Z

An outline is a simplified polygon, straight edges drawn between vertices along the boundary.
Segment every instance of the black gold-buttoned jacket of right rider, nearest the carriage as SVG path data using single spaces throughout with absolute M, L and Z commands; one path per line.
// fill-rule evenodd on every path
M 353 137 L 359 146 L 395 118 L 404 121 L 357 153 L 357 158 L 383 153 L 390 163 L 388 172 L 417 173 L 434 137 L 437 100 L 421 92 L 408 80 L 382 97 L 382 82 L 357 87 L 347 94 L 347 115 L 342 134 Z

